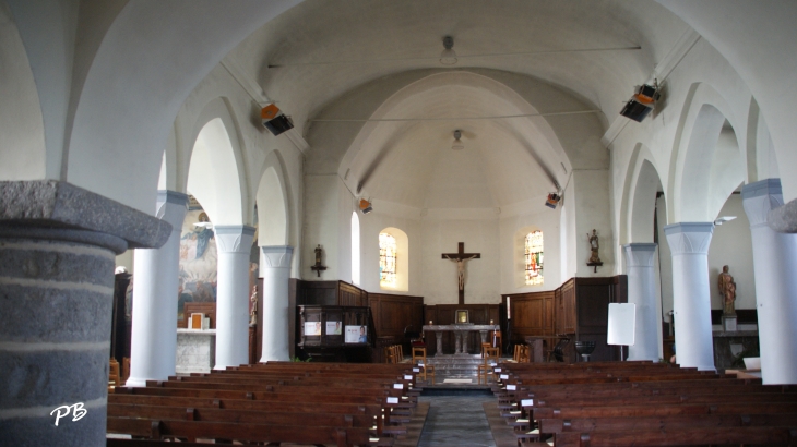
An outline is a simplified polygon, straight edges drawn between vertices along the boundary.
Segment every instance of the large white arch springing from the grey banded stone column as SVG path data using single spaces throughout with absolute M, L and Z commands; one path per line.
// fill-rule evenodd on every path
M 68 141 L 66 180 L 152 213 L 164 143 L 180 106 L 233 47 L 298 2 L 279 0 L 255 9 L 207 3 L 201 11 L 169 2 L 128 2 L 86 68 Z M 178 28 L 188 32 L 175 33 Z M 251 213 L 249 208 L 243 209 Z

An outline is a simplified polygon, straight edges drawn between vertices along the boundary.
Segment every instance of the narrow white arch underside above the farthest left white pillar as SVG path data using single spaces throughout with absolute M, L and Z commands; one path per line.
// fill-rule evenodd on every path
M 288 245 L 290 243 L 290 206 L 287 182 L 279 154 L 265 157 L 263 176 L 257 193 L 258 245 Z

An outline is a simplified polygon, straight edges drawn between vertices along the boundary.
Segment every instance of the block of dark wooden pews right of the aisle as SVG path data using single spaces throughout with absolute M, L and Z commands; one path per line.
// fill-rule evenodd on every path
M 797 386 L 666 363 L 499 363 L 519 446 L 797 446 Z

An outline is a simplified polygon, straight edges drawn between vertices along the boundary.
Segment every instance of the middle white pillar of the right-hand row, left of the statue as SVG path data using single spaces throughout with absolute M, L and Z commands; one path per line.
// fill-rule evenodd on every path
M 709 245 L 712 222 L 681 222 L 664 227 L 673 254 L 673 312 L 678 363 L 715 371 L 709 289 Z

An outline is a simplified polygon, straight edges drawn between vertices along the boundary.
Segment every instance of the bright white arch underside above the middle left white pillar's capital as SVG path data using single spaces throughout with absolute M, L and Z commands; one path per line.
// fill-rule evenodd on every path
M 181 150 L 187 166 L 179 166 L 177 174 L 214 225 L 252 220 L 240 141 L 229 105 L 225 98 L 216 98 L 204 107 L 188 138 L 189 146 Z

